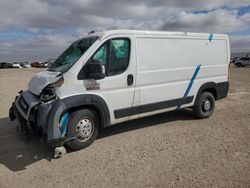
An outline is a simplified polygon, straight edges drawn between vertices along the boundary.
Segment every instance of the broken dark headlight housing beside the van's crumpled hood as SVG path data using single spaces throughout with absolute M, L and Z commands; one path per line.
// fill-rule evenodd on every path
M 63 84 L 64 79 L 63 77 L 61 77 L 60 79 L 58 79 L 56 82 L 47 85 L 41 92 L 40 94 L 40 100 L 43 102 L 48 102 L 52 99 L 56 98 L 56 93 L 55 90 L 56 88 L 61 87 L 61 85 Z

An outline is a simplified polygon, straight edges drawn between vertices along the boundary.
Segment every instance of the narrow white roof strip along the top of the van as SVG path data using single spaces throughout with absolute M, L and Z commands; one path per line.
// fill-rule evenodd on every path
M 225 34 L 214 34 L 214 33 L 192 33 L 192 32 L 174 32 L 174 31 L 147 31 L 147 30 L 106 30 L 102 32 L 91 32 L 90 35 L 106 37 L 110 35 L 118 35 L 118 34 L 129 34 L 129 35 L 137 35 L 137 36 L 189 36 L 189 37 L 216 37 L 218 38 L 227 38 L 228 36 Z

